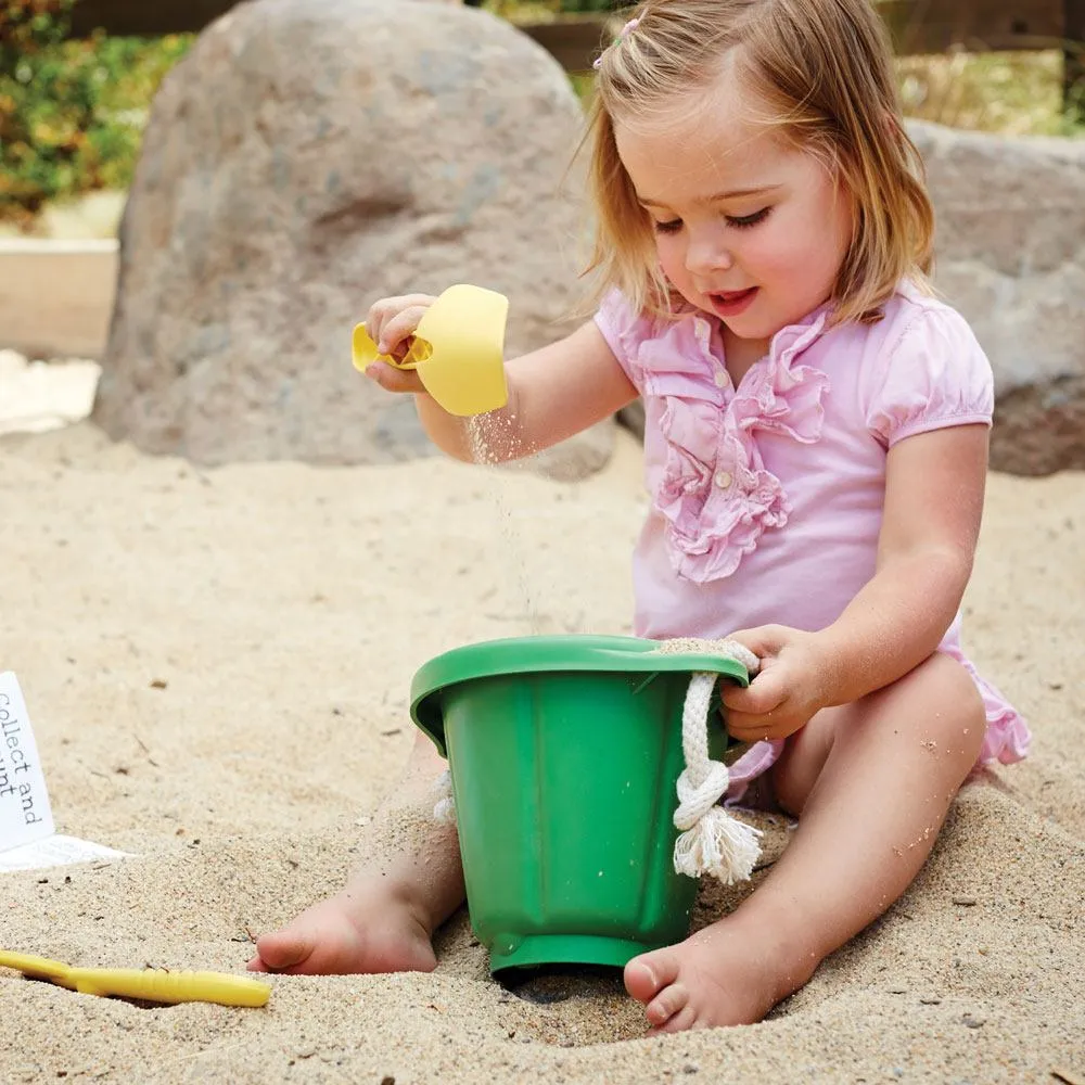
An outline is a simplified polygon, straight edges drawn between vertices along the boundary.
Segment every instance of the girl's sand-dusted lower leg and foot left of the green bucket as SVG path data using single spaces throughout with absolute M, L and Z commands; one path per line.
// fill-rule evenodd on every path
M 446 769 L 419 735 L 403 778 L 362 840 L 366 859 L 335 896 L 256 942 L 255 972 L 429 972 L 433 932 L 463 902 L 456 827 L 433 820 Z

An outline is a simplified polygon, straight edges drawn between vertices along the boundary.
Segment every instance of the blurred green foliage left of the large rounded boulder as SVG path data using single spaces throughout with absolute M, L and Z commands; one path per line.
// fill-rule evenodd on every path
M 75 0 L 0 0 L 0 220 L 131 180 L 146 106 L 189 38 L 68 41 Z

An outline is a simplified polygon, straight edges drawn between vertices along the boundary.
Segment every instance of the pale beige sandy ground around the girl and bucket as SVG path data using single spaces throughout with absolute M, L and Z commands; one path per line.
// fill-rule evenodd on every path
M 627 631 L 638 458 L 623 437 L 570 486 L 439 459 L 200 471 L 89 424 L 0 438 L 0 669 L 58 828 L 137 856 L 0 876 L 0 945 L 240 971 L 354 860 L 419 664 Z M 905 897 L 760 1025 L 649 1039 L 615 976 L 508 990 L 461 912 L 432 975 L 278 976 L 259 1010 L 0 970 L 0 1080 L 1085 1082 L 1083 602 L 1085 475 L 993 476 L 967 642 L 1034 755 L 968 787 Z M 733 902 L 706 891 L 699 920 Z

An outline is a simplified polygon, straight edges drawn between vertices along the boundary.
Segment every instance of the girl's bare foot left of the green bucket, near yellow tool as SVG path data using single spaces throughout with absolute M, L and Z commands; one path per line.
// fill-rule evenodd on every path
M 251 972 L 432 972 L 431 932 L 387 882 L 359 881 L 256 941 Z

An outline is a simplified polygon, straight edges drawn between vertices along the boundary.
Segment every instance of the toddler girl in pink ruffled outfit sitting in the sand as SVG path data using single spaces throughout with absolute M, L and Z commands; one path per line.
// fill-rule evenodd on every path
M 598 71 L 605 294 L 508 363 L 509 406 L 476 424 L 512 457 L 644 401 L 635 631 L 756 653 L 750 688 L 724 695 L 751 743 L 731 797 L 760 777 L 800 821 L 732 914 L 636 957 L 625 983 L 656 1030 L 752 1022 L 901 896 L 973 766 L 1026 752 L 959 640 L 992 374 L 928 285 L 931 205 L 868 0 L 649 0 Z M 383 352 L 431 301 L 373 306 Z M 369 375 L 471 458 L 414 374 Z M 432 803 L 442 768 L 420 739 L 397 802 Z M 251 967 L 432 969 L 463 897 L 455 829 L 397 840 Z

